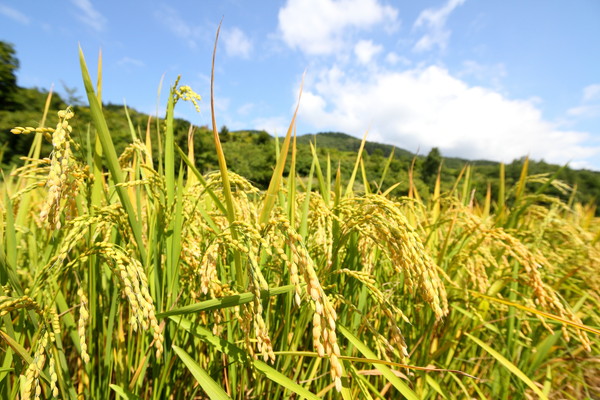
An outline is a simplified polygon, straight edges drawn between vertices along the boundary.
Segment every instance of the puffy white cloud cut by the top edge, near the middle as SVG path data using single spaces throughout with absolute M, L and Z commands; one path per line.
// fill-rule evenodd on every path
M 309 55 L 330 55 L 349 45 L 348 32 L 397 26 L 398 11 L 378 0 L 288 0 L 279 10 L 283 41 Z

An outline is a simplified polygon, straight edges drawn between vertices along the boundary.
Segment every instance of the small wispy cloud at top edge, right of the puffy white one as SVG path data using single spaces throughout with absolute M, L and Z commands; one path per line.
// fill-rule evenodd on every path
M 450 39 L 450 31 L 446 29 L 446 20 L 450 13 L 465 0 L 448 0 L 441 8 L 427 8 L 419 14 L 413 28 L 425 29 L 427 32 L 421 36 L 413 47 L 414 51 L 422 52 L 433 49 L 437 46 L 444 50 Z

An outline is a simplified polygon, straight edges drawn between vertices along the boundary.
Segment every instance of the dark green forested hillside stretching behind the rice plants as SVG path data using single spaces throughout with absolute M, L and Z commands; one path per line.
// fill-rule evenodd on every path
M 26 155 L 31 136 L 13 135 L 10 129 L 15 126 L 38 126 L 43 105 L 47 93 L 38 89 L 19 88 L 19 98 L 13 109 L 0 110 L 0 141 L 4 144 L 0 151 L 1 164 L 4 169 L 18 164 L 19 157 Z M 66 107 L 66 102 L 58 95 L 53 96 L 48 115 L 47 126 L 56 124 L 56 111 Z M 76 106 L 75 138 L 87 140 L 87 127 L 91 122 L 89 109 L 85 106 Z M 129 125 L 124 108 L 121 105 L 107 104 L 104 106 L 105 116 L 113 136 L 117 150 L 122 150 L 131 140 Z M 129 109 L 132 122 L 138 132 L 143 134 L 149 116 Z M 178 145 L 187 148 L 187 132 L 190 123 L 183 119 L 175 121 L 175 136 Z M 154 125 L 155 126 L 155 125 Z M 200 171 L 208 172 L 218 169 L 215 157 L 212 133 L 206 126 L 196 127 L 194 140 L 195 160 Z M 155 132 L 155 129 L 151 130 Z M 227 163 L 231 169 L 238 174 L 248 178 L 255 185 L 266 188 L 269 183 L 273 166 L 276 161 L 275 141 L 264 131 L 240 130 L 229 131 L 227 127 L 221 127 L 220 137 L 223 149 L 227 157 Z M 154 143 L 158 138 L 153 137 Z M 323 171 L 326 170 L 325 162 L 329 157 L 332 167 L 332 175 L 339 167 L 343 180 L 348 179 L 354 163 L 356 154 L 360 148 L 361 140 L 341 132 L 321 132 L 316 134 L 305 134 L 298 136 L 296 171 L 302 176 L 308 175 L 312 164 L 312 153 L 309 143 L 317 145 L 317 152 Z M 46 144 L 44 152 L 49 154 L 51 145 Z M 158 159 L 158 150 L 155 160 Z M 394 157 L 388 162 L 389 155 L 394 152 Z M 437 150 L 436 150 L 437 151 Z M 465 160 L 461 158 L 444 157 L 443 154 L 435 153 L 418 155 L 405 149 L 382 143 L 367 141 L 363 153 L 365 174 L 371 190 L 381 190 L 400 183 L 395 189 L 396 194 L 406 194 L 409 187 L 408 171 L 414 160 L 413 182 L 419 193 L 428 196 L 437 176 L 439 163 L 442 162 L 441 182 L 442 188 L 449 190 L 465 165 L 471 165 L 471 189 L 475 196 L 482 198 L 490 185 L 492 192 L 497 193 L 499 184 L 499 163 L 486 160 Z M 524 159 L 514 160 L 506 165 L 506 183 L 510 185 L 518 181 Z M 387 165 L 387 168 L 386 168 Z M 385 171 L 385 174 L 384 174 Z M 600 173 L 589 170 L 574 170 L 569 167 L 548 164 L 543 161 L 530 161 L 529 174 L 557 174 L 557 178 L 577 187 L 576 200 L 596 203 L 600 199 Z M 357 179 L 357 184 L 362 185 L 362 174 Z M 553 194 L 567 198 L 569 194 L 554 191 Z

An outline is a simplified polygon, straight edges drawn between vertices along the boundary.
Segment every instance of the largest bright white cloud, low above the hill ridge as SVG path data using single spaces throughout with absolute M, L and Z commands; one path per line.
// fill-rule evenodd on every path
M 322 71 L 306 88 L 300 121 L 416 151 L 509 162 L 524 155 L 564 163 L 600 154 L 590 135 L 561 130 L 528 100 L 469 86 L 441 67 L 380 71 L 370 78 L 339 68 Z

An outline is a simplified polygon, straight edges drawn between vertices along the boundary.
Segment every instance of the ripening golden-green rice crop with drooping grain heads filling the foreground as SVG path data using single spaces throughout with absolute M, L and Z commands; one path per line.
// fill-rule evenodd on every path
M 117 154 L 80 60 L 93 125 L 13 130 L 35 139 L 0 189 L 1 398 L 600 398 L 600 224 L 546 194 L 568 185 L 525 163 L 477 202 L 466 166 L 400 196 L 318 144 L 299 176 L 294 114 L 261 191 L 214 110 L 218 171 L 175 144 L 175 107 L 203 107 L 178 82 Z

